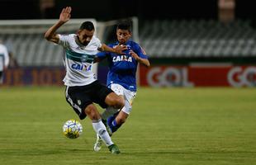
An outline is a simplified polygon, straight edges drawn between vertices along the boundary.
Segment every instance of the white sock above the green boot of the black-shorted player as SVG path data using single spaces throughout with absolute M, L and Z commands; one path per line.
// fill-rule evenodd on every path
M 102 123 L 102 120 L 92 121 L 92 127 L 107 146 L 114 144 L 111 140 L 111 137 L 107 133 L 106 126 Z

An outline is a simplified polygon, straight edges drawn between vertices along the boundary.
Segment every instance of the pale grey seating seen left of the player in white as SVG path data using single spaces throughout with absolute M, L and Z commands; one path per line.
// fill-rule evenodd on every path
M 61 65 L 62 50 L 55 45 L 48 45 L 43 35 L 20 34 L 0 35 L 0 40 L 11 45 L 14 57 L 21 66 Z

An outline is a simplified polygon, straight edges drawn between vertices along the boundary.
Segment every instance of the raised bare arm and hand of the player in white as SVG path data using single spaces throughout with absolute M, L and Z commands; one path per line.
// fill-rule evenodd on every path
M 62 12 L 59 15 L 59 21 L 57 21 L 54 26 L 51 26 L 50 29 L 45 32 L 46 40 L 50 40 L 57 44 L 59 43 L 59 35 L 57 35 L 55 32 L 59 29 L 60 26 L 69 21 L 71 17 L 70 13 L 71 7 L 65 7 L 62 9 Z

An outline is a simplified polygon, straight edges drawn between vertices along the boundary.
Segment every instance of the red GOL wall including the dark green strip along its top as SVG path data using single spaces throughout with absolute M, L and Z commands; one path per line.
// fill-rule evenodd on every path
M 145 87 L 256 87 L 254 57 L 150 58 L 140 66 Z

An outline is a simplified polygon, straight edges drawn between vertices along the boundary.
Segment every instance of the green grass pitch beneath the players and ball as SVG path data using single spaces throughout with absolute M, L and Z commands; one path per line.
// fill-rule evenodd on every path
M 78 117 L 64 87 L 0 88 L 0 164 L 256 163 L 256 88 L 140 87 L 130 118 L 112 136 L 120 155 L 92 151 L 88 118 L 81 137 L 65 138 L 71 118 Z

